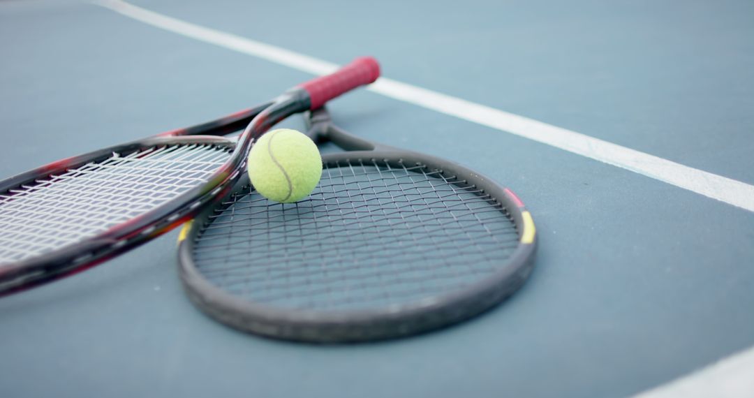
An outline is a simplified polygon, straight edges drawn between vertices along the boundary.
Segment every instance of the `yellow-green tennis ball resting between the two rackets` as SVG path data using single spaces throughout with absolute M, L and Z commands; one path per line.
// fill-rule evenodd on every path
M 271 201 L 293 203 L 317 186 L 322 157 L 317 145 L 296 130 L 272 130 L 257 140 L 247 163 L 252 185 Z

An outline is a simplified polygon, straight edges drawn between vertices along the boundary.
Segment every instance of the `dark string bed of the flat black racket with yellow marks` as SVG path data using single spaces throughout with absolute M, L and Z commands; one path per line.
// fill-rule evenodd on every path
M 501 271 L 516 226 L 489 194 L 424 165 L 344 161 L 308 200 L 231 195 L 195 241 L 198 271 L 253 302 L 377 308 Z

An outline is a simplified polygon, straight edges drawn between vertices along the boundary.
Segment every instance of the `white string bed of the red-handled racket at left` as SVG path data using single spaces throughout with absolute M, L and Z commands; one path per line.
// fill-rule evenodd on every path
M 227 160 L 216 145 L 163 145 L 37 179 L 0 194 L 0 264 L 107 231 L 206 181 Z

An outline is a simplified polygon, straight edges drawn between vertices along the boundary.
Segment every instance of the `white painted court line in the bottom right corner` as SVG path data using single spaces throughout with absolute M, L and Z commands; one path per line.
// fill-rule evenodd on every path
M 754 391 L 754 348 L 633 398 L 738 398 Z

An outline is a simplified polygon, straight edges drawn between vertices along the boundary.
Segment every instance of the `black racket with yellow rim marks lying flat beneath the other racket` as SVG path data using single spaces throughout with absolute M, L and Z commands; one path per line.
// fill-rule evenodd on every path
M 311 113 L 323 156 L 305 200 L 243 179 L 179 237 L 192 302 L 222 323 L 299 341 L 412 335 L 479 314 L 526 281 L 535 226 L 521 201 L 458 164 L 368 142 Z

